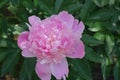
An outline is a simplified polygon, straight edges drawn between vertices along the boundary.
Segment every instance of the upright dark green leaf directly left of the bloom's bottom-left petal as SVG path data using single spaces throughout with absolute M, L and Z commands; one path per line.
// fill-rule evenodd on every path
M 19 80 L 33 80 L 35 63 L 36 62 L 34 58 L 24 60 L 19 74 Z

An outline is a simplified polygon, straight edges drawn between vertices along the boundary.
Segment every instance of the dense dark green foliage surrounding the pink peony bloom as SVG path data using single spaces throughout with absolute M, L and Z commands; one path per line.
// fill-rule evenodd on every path
M 0 0 L 0 75 L 39 80 L 35 58 L 24 58 L 16 44 L 28 17 L 41 19 L 66 10 L 86 27 L 83 59 L 68 59 L 67 80 L 120 80 L 120 0 Z M 54 77 L 52 78 L 54 80 Z

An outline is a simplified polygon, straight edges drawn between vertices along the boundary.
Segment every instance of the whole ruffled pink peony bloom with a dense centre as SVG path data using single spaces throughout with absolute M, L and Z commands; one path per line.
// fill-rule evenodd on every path
M 84 44 L 80 40 L 84 30 L 80 22 L 68 12 L 41 20 L 29 17 L 29 31 L 18 37 L 18 46 L 25 57 L 37 57 L 36 73 L 41 80 L 66 79 L 68 63 L 66 57 L 83 58 Z

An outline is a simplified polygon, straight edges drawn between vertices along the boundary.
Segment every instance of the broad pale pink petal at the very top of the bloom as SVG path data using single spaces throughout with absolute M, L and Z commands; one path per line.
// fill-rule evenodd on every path
M 57 17 L 67 28 L 72 28 L 74 17 L 71 14 L 68 14 L 66 11 L 62 11 Z

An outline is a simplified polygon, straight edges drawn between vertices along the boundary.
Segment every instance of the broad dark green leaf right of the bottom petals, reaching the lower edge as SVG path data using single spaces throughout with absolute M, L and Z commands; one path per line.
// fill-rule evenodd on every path
M 89 64 L 84 59 L 71 60 L 72 69 L 78 73 L 78 75 L 85 80 L 92 80 L 91 70 Z

